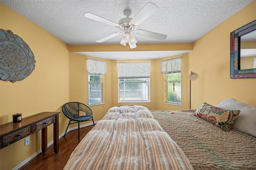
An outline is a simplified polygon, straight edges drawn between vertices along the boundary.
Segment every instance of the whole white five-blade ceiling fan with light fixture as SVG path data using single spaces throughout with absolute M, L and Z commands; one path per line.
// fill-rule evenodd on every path
M 104 42 L 118 35 L 121 35 L 124 32 L 124 38 L 122 38 L 120 44 L 126 46 L 126 43 L 129 43 L 130 48 L 135 48 L 137 40 L 135 40 L 135 38 L 132 36 L 131 34 L 132 32 L 135 32 L 138 35 L 145 36 L 148 38 L 154 38 L 156 40 L 165 40 L 167 38 L 167 35 L 164 35 L 164 34 L 159 34 L 156 32 L 151 32 L 151 31 L 141 30 L 141 29 L 136 30 L 136 27 L 140 23 L 142 23 L 144 20 L 146 20 L 150 15 L 156 12 L 156 10 L 158 10 L 158 6 L 156 6 L 156 4 L 153 4 L 152 2 L 148 2 L 140 10 L 140 12 L 136 14 L 134 18 L 130 18 L 130 15 L 132 14 L 131 10 L 124 10 L 125 18 L 122 18 L 118 22 L 118 24 L 91 13 L 84 14 L 84 17 L 108 24 L 110 26 L 117 27 L 120 30 L 120 32 L 110 34 L 109 36 L 106 36 L 100 40 L 97 40 L 96 42 L 99 42 L 99 43 Z

